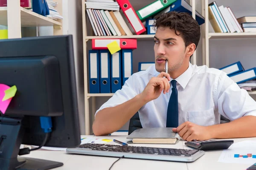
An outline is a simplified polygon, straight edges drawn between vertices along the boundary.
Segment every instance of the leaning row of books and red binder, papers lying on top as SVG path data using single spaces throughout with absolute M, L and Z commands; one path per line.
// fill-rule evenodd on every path
M 133 35 L 131 30 L 135 34 L 146 31 L 128 0 L 87 0 L 85 4 L 96 36 Z

